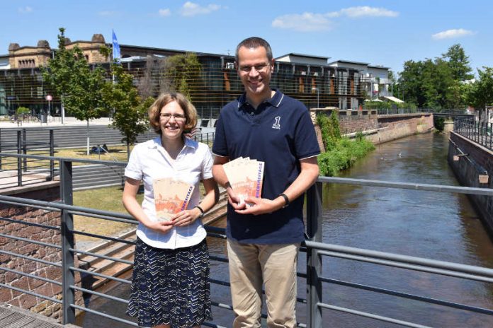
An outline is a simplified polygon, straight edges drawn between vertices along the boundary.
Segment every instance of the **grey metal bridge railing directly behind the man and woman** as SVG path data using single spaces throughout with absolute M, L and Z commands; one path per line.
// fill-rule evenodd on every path
M 18 155 L 23 158 L 23 155 Z M 87 293 L 89 295 L 96 295 L 101 298 L 106 298 L 108 300 L 115 301 L 121 306 L 125 307 L 128 304 L 128 300 L 124 298 L 119 298 L 113 295 L 108 295 L 107 293 L 101 293 L 99 291 L 91 291 L 90 288 L 82 288 L 77 286 L 75 283 L 75 274 L 88 274 L 94 276 L 103 276 L 103 278 L 110 281 L 116 281 L 118 283 L 130 284 L 127 279 L 121 279 L 118 277 L 108 276 L 105 274 L 98 274 L 93 271 L 88 271 L 86 269 L 81 269 L 76 267 L 74 264 L 75 254 L 89 254 L 94 257 L 101 257 L 104 259 L 111 259 L 115 262 L 123 262 L 126 264 L 132 264 L 132 262 L 118 259 L 111 256 L 102 256 L 92 252 L 86 252 L 84 250 L 79 250 L 75 248 L 74 238 L 76 235 L 85 235 L 89 237 L 99 238 L 102 240 L 113 240 L 116 242 L 123 242 L 126 244 L 135 244 L 133 241 L 123 240 L 120 238 L 114 238 L 111 236 L 98 235 L 94 233 L 87 233 L 84 231 L 74 229 L 74 215 L 84 215 L 91 216 L 94 218 L 99 218 L 106 221 L 116 221 L 120 223 L 131 223 L 136 224 L 136 221 L 129 215 L 115 213 L 110 211 L 101 211 L 98 209 L 89 209 L 81 206 L 72 205 L 72 161 L 79 160 L 69 160 L 52 158 L 54 160 L 60 160 L 60 194 L 61 201 L 36 201 L 32 199 L 0 196 L 0 204 L 11 205 L 11 206 L 28 206 L 35 209 L 42 209 L 44 211 L 56 211 L 60 212 L 61 223 L 59 226 L 50 225 L 40 225 L 38 223 L 30 223 L 28 221 L 16 220 L 10 217 L 0 217 L 0 221 L 6 223 L 18 223 L 21 225 L 34 225 L 38 228 L 45 229 L 55 229 L 60 231 L 62 240 L 60 245 L 53 244 L 50 242 L 39 242 L 30 240 L 28 238 L 20 238 L 14 235 L 8 235 L 1 233 L 1 238 L 7 238 L 7 240 L 22 240 L 24 242 L 33 243 L 35 245 L 52 247 L 53 250 L 59 251 L 62 254 L 60 262 L 47 262 L 42 259 L 35 258 L 33 256 L 26 256 L 23 254 L 18 254 L 15 251 L 0 250 L 0 254 L 8 255 L 9 257 L 22 257 L 23 259 L 29 259 L 34 262 L 40 262 L 45 265 L 55 266 L 62 269 L 62 281 L 54 281 L 41 276 L 35 276 L 32 274 L 25 273 L 16 269 L 9 269 L 8 267 L 1 265 L 0 270 L 8 271 L 13 274 L 20 276 L 28 276 L 30 279 L 39 279 L 41 281 L 54 283 L 57 286 L 62 286 L 62 299 L 53 297 L 52 295 L 42 295 L 40 293 L 35 293 L 34 291 L 24 290 L 16 286 L 11 286 L 8 283 L 0 283 L 1 288 L 9 288 L 13 291 L 18 291 L 21 293 L 26 293 L 29 295 L 34 295 L 36 297 L 50 300 L 54 303 L 60 303 L 63 309 L 62 321 L 64 324 L 75 322 L 75 310 L 81 310 L 84 312 L 89 312 L 93 315 L 98 315 L 102 317 L 115 320 L 116 322 L 121 322 L 129 324 L 131 326 L 137 327 L 135 322 L 127 320 L 123 317 L 118 317 L 115 315 L 109 315 L 106 312 L 90 309 L 86 306 L 77 305 L 75 303 L 75 293 L 76 291 Z M 84 162 L 89 162 L 90 160 L 84 160 Z M 114 163 L 111 163 L 114 164 Z M 393 324 L 399 324 L 404 327 L 425 327 L 416 322 L 407 322 L 404 320 L 399 320 L 397 318 L 385 317 L 382 315 L 375 315 L 370 312 L 363 312 L 359 310 L 353 310 L 351 308 L 340 307 L 334 304 L 324 303 L 323 298 L 327 295 L 322 295 L 322 286 L 325 283 L 339 286 L 348 286 L 351 288 L 358 288 L 363 291 L 372 291 L 373 293 L 379 293 L 382 295 L 393 295 L 398 298 L 404 298 L 407 300 L 418 300 L 431 305 L 442 305 L 445 307 L 450 307 L 455 310 L 469 311 L 480 313 L 483 315 L 492 315 L 493 310 L 486 309 L 482 307 L 476 307 L 474 305 L 466 305 L 461 303 L 454 303 L 448 300 L 440 300 L 436 298 L 430 298 L 423 295 L 415 295 L 412 293 L 403 293 L 399 291 L 392 291 L 389 289 L 379 288 L 375 286 L 367 286 L 361 283 L 353 283 L 351 281 L 341 281 L 336 279 L 331 279 L 330 277 L 323 276 L 322 264 L 327 264 L 328 258 L 343 258 L 351 261 L 366 262 L 372 264 L 378 264 L 382 266 L 394 266 L 396 268 L 402 268 L 413 271 L 427 272 L 430 274 L 437 274 L 439 276 L 453 276 L 460 279 L 467 279 L 471 281 L 481 281 L 486 283 L 493 282 L 493 269 L 487 269 L 480 266 L 470 266 L 464 264 L 455 264 L 452 262 L 437 261 L 433 259 L 425 259 L 420 257 L 410 257 L 399 254 L 392 254 L 388 252 L 377 252 L 373 250 L 365 250 L 355 247 L 345 247 L 344 245 L 334 245 L 322 242 L 322 185 L 325 183 L 331 184 L 348 184 L 348 185 L 358 185 L 367 187 L 386 187 L 386 188 L 397 188 L 397 189 L 412 189 L 417 191 L 427 191 L 427 192 L 453 192 L 459 194 L 476 194 L 485 195 L 487 197 L 493 197 L 493 189 L 482 189 L 482 188 L 470 188 L 470 187 L 453 187 L 453 186 L 443 186 L 443 185 L 426 185 L 426 184 L 414 184 L 414 183 L 402 183 L 402 182 L 385 182 L 377 180 L 359 180 L 359 179 L 348 179 L 348 178 L 338 178 L 338 177 L 319 177 L 317 183 L 312 186 L 307 192 L 307 240 L 302 244 L 301 251 L 306 252 L 306 272 L 298 272 L 298 276 L 306 279 L 307 283 L 307 293 L 306 295 L 300 295 L 297 298 L 297 302 L 301 304 L 306 304 L 307 321 L 298 322 L 298 327 L 312 327 L 319 328 L 323 327 L 324 310 L 335 310 L 338 312 L 345 312 L 351 315 L 357 315 L 361 317 L 372 318 L 373 320 L 380 320 L 382 322 L 390 322 Z M 207 227 L 208 236 L 212 238 L 225 238 L 224 229 Z M 211 261 L 227 262 L 227 258 L 223 256 L 215 256 L 211 254 Z M 222 286 L 229 286 L 227 281 L 220 281 L 215 279 L 214 276 L 210 278 L 211 283 L 219 284 Z M 215 301 L 215 295 L 212 294 L 212 305 L 215 307 L 221 307 L 222 309 L 232 309 L 231 305 L 220 303 Z M 266 317 L 266 315 L 263 315 Z M 419 320 L 419 318 L 416 318 Z M 205 322 L 205 326 L 208 327 L 221 327 L 213 322 Z

